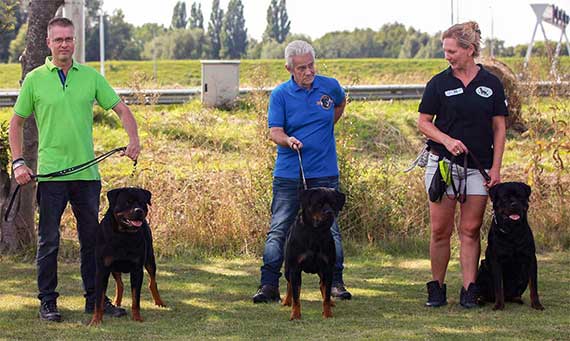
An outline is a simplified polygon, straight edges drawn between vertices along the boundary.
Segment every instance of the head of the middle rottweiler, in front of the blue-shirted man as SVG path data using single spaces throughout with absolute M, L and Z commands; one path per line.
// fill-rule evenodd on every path
M 332 188 L 317 187 L 301 191 L 303 221 L 315 228 L 330 228 L 345 200 L 343 193 Z

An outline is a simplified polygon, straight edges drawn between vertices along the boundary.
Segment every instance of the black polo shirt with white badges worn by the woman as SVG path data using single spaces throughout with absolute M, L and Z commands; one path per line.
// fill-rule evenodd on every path
M 451 67 L 435 75 L 426 85 L 418 111 L 435 115 L 435 126 L 460 140 L 485 168 L 493 164 L 493 116 L 507 116 L 507 101 L 501 81 L 481 64 L 467 87 L 453 76 Z M 428 140 L 439 155 L 451 159 L 444 145 Z M 463 156 L 457 160 L 463 164 Z M 477 168 L 471 159 L 469 168 Z

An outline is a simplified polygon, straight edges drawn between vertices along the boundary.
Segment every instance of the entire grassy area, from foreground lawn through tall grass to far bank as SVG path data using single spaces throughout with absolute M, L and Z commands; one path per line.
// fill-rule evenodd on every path
M 116 63 L 109 78 L 119 87 L 136 84 L 140 78 L 133 77 L 135 71 L 152 70 L 150 62 Z M 198 84 L 197 61 L 161 63 L 161 82 L 171 77 L 161 85 Z M 242 63 L 242 86 L 286 79 L 281 61 L 262 61 L 267 65 L 261 68 L 259 63 Z M 344 84 L 381 83 L 384 77 L 386 83 L 394 84 L 422 83 L 445 62 L 325 60 L 320 65 L 323 73 L 338 76 Z M 0 88 L 17 84 L 18 75 L 17 65 L 0 65 Z M 100 165 L 102 212 L 107 205 L 104 193 L 112 188 L 141 186 L 153 192 L 149 222 L 159 256 L 159 288 L 168 308 L 153 307 L 145 289 L 145 323 L 106 319 L 101 328 L 87 328 L 79 246 L 68 210 L 62 222 L 59 271 L 59 305 L 65 322 L 37 320 L 32 247 L 23 257 L 0 256 L 0 340 L 37 339 L 38 335 L 46 340 L 570 339 L 566 312 L 570 176 L 565 167 L 570 162 L 570 101 L 525 96 L 523 118 L 528 131 L 509 133 L 503 163 L 504 181 L 525 181 L 533 187 L 529 219 L 540 252 L 544 312 L 528 304 L 507 305 L 504 312 L 493 312 L 490 306 L 461 309 L 456 261 L 447 280 L 450 305 L 437 310 L 422 306 L 429 279 L 427 200 L 422 170 L 402 172 L 422 143 L 416 129 L 418 103 L 353 101 L 335 128 L 341 189 L 348 195 L 340 216 L 347 254 L 345 280 L 355 299 L 339 302 L 333 319 L 321 319 L 318 283 L 310 276 L 304 277 L 301 322 L 288 321 L 288 308 L 251 303 L 269 222 L 275 153 L 267 139 L 267 98 L 254 93 L 232 110 L 203 108 L 198 101 L 133 106 L 143 146 L 134 176 L 132 163 L 119 157 Z M 10 115 L 10 108 L 0 109 L 0 121 Z M 99 108 L 94 139 L 97 154 L 126 144 L 116 116 Z M 483 227 L 483 247 L 490 211 Z M 457 253 L 454 240 L 454 260 Z M 130 307 L 128 297 L 126 307 Z M 524 298 L 528 303 L 528 294 Z

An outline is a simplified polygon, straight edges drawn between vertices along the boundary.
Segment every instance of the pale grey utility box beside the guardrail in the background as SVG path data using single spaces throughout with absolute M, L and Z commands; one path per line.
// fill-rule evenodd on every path
M 239 60 L 202 60 L 202 104 L 231 107 L 239 94 Z

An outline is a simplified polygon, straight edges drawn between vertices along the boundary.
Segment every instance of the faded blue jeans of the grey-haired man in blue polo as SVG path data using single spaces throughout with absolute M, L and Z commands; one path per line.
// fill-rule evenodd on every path
M 329 187 L 338 190 L 338 177 L 323 177 L 307 179 L 307 187 Z M 299 191 L 303 184 L 299 179 L 275 177 L 273 179 L 273 201 L 271 203 L 271 225 L 263 251 L 263 266 L 261 267 L 261 285 L 279 286 L 281 265 L 284 257 L 284 244 L 289 228 L 295 221 L 299 211 Z M 338 224 L 331 226 L 336 248 L 336 264 L 333 274 L 333 285 L 342 285 L 342 270 L 344 269 L 344 254 Z

